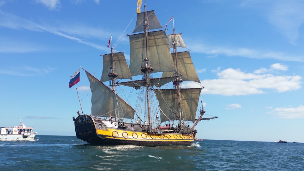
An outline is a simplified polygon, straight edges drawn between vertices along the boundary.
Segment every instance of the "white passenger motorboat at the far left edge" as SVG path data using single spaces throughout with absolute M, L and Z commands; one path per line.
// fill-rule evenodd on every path
M 37 132 L 33 132 L 33 127 L 26 127 L 22 124 L 20 118 L 19 126 L 15 127 L 1 127 L 0 128 L 0 141 L 13 141 L 13 140 L 29 140 L 33 141 Z

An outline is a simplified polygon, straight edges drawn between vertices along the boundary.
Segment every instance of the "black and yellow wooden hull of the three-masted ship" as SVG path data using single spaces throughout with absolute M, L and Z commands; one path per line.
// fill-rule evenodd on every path
M 112 122 L 90 115 L 75 119 L 75 132 L 78 139 L 97 145 L 192 145 L 193 135 L 183 135 L 174 130 L 157 130 L 148 125 Z

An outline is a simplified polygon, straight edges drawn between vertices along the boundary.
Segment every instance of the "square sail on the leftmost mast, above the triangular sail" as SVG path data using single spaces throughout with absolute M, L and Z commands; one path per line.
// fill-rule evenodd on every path
M 102 55 L 103 57 L 103 69 L 102 75 L 100 78 L 101 82 L 109 81 L 111 78 L 108 76 L 109 71 L 111 69 L 111 57 L 112 53 Z M 123 52 L 113 53 L 113 61 L 115 61 L 115 70 L 118 76 L 116 79 L 130 79 L 132 80 L 130 70 L 128 68 L 128 64 L 126 62 L 126 58 Z

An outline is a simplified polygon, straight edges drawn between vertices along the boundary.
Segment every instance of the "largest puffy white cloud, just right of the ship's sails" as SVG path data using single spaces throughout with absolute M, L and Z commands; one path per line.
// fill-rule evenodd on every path
M 245 73 L 239 69 L 229 68 L 217 73 L 219 79 L 202 80 L 206 89 L 203 94 L 248 95 L 263 94 L 267 90 L 285 92 L 301 88 L 302 77 L 299 75 L 273 75 Z

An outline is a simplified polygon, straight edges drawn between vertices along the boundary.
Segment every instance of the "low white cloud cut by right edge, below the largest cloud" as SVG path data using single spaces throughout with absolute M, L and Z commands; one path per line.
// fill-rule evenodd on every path
M 275 108 L 270 113 L 277 115 L 279 118 L 304 118 L 304 106 L 299 106 L 298 108 Z

